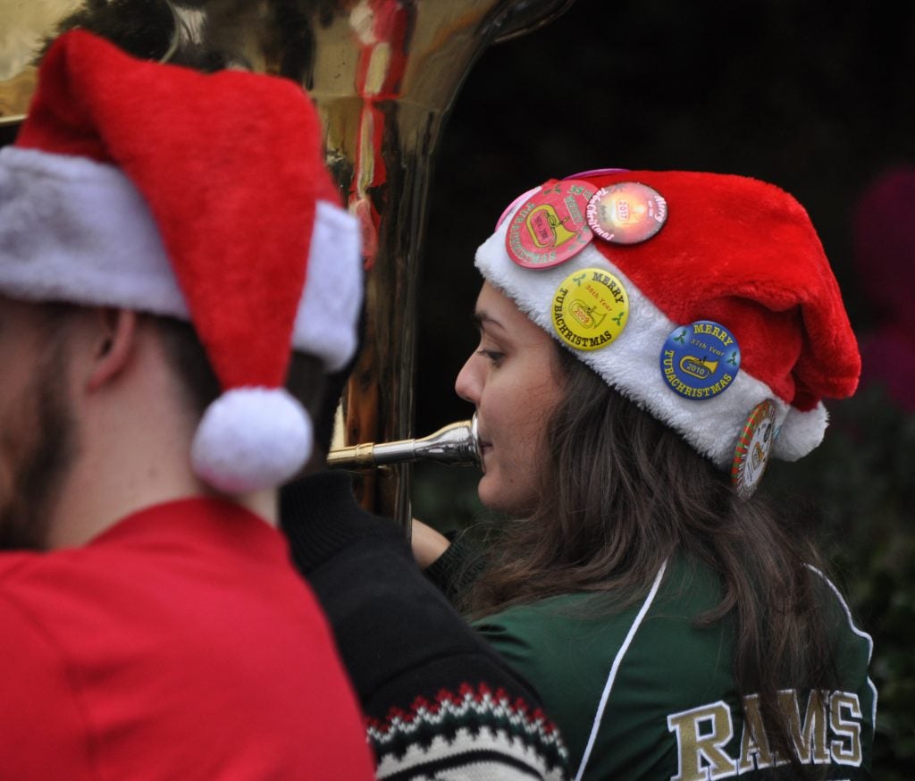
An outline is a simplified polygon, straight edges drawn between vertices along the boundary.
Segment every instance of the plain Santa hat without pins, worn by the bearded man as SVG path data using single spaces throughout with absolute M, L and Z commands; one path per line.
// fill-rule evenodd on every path
M 292 81 L 134 59 L 75 30 L 0 150 L 0 291 L 189 320 L 223 391 L 192 462 L 225 493 L 279 485 L 310 454 L 283 389 L 291 350 L 338 369 L 356 345 L 359 230 L 321 138 Z

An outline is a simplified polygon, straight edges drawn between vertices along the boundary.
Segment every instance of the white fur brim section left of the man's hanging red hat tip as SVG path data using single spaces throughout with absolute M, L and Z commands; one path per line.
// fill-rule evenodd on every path
M 84 157 L 0 150 L 0 288 L 188 318 L 144 199 Z

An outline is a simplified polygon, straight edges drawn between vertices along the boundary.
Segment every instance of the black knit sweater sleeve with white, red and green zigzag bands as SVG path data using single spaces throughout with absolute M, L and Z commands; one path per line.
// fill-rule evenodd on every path
M 536 692 L 425 579 L 397 524 L 358 506 L 348 476 L 285 488 L 281 521 L 359 696 L 379 779 L 569 777 Z

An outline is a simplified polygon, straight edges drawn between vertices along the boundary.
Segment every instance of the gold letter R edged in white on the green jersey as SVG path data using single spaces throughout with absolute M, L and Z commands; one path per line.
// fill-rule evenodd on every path
M 671 781 L 707 781 L 734 775 L 737 765 L 724 750 L 734 734 L 726 702 L 719 700 L 673 713 L 667 717 L 667 729 L 677 734 L 680 746 L 680 769 Z

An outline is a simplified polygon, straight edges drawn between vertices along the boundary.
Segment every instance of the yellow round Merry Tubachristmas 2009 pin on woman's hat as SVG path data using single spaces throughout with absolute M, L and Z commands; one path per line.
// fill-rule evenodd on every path
M 570 273 L 553 295 L 553 326 L 565 344 L 582 350 L 607 347 L 629 318 L 629 294 L 612 273 L 586 268 Z

